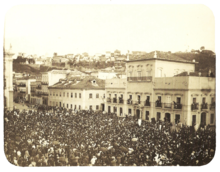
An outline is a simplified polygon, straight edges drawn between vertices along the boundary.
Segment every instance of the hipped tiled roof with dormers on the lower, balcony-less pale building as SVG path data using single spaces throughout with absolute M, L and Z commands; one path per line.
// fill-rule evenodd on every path
M 92 84 L 91 81 L 95 80 L 96 85 Z M 64 80 L 63 80 L 64 81 Z M 72 81 L 69 83 L 69 81 Z M 78 81 L 78 83 L 77 83 Z M 86 76 L 86 77 L 72 77 L 69 80 L 66 80 L 62 83 L 58 82 L 50 87 L 49 89 L 105 89 L 105 80 L 98 79 L 93 76 Z

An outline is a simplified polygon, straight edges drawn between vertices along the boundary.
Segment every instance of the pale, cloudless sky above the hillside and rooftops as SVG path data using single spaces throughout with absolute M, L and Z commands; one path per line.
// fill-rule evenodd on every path
M 206 4 L 24 4 L 3 16 L 5 47 L 51 57 L 106 51 L 217 52 L 217 21 Z

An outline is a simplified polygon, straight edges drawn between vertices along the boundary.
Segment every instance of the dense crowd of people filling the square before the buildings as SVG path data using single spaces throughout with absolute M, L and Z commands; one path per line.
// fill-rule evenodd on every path
M 51 107 L 7 111 L 4 120 L 4 156 L 17 167 L 203 166 L 215 156 L 210 126 Z

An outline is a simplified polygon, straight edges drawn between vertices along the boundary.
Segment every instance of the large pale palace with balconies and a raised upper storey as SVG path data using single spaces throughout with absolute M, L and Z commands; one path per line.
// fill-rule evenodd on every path
M 152 58 L 127 61 L 126 86 L 119 79 L 106 80 L 106 91 L 118 99 L 123 88 L 122 112 L 143 120 L 214 124 L 215 78 L 196 74 L 195 64 L 173 56 L 157 57 L 156 53 Z M 185 76 L 176 76 L 183 71 Z M 114 112 L 117 103 L 107 102 L 106 107 Z

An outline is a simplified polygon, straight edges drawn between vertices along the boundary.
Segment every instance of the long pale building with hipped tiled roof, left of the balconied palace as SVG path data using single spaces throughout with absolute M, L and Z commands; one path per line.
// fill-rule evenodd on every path
M 49 106 L 104 110 L 105 84 L 95 77 L 61 79 L 48 87 Z

